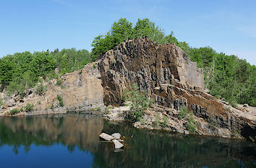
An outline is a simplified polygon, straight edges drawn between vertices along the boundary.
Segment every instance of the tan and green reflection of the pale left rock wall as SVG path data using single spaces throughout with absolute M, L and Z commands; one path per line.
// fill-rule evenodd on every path
M 43 115 L 0 118 L 0 145 L 52 145 L 61 143 L 69 150 L 78 146 L 93 151 L 98 146 L 103 119 L 95 115 Z

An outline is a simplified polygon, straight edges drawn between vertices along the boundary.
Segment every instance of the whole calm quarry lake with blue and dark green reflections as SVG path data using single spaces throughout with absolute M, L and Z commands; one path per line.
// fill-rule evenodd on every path
M 125 136 L 124 149 L 102 132 Z M 0 167 L 256 167 L 256 144 L 140 130 L 98 115 L 0 118 Z

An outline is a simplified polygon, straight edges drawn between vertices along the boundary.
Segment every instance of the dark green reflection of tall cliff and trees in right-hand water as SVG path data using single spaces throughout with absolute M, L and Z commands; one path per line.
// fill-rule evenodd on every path
M 247 167 L 256 165 L 254 143 L 212 136 L 184 136 L 104 123 L 103 132 L 120 132 L 129 146 L 114 153 L 99 144 L 95 167 Z M 104 152 L 102 152 L 104 151 Z M 98 160 L 96 160 L 98 159 Z M 103 159 L 103 160 L 102 160 Z

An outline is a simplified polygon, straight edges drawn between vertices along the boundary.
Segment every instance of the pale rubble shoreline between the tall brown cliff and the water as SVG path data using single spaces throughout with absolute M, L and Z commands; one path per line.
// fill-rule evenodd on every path
M 127 121 L 129 106 L 111 107 L 108 112 L 103 114 L 103 118 L 109 121 Z M 197 130 L 189 132 L 186 128 L 187 120 L 179 119 L 179 111 L 173 109 L 162 109 L 161 107 L 151 107 L 145 111 L 141 120 L 132 123 L 135 128 L 171 131 L 185 134 L 198 134 L 205 136 L 220 136 L 223 138 L 244 138 L 239 133 L 229 131 L 227 128 L 218 128 L 214 123 L 207 123 L 202 118 L 195 116 Z M 166 117 L 166 119 L 165 119 Z

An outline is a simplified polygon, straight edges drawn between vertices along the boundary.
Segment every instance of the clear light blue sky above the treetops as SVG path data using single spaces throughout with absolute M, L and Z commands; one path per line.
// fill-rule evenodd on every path
M 0 0 L 0 57 L 25 50 L 91 49 L 114 21 L 149 18 L 192 47 L 210 46 L 256 65 L 256 1 Z

